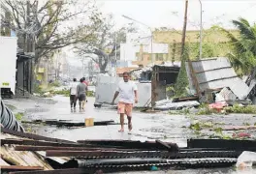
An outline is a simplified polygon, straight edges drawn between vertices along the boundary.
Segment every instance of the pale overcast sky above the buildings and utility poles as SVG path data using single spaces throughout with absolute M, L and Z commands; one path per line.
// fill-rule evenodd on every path
M 129 22 L 125 14 L 150 27 L 182 29 L 185 0 L 96 0 L 100 9 L 115 17 L 117 27 Z M 255 22 L 255 0 L 202 0 L 204 28 L 220 24 L 232 28 L 231 20 L 242 16 Z M 189 0 L 188 30 L 199 29 L 199 0 Z M 143 28 L 144 26 L 139 27 Z M 146 29 L 145 29 L 146 30 Z

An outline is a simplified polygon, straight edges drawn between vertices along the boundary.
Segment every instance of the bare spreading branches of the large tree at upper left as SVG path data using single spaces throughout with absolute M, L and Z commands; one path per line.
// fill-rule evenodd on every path
M 1 9 L 11 14 L 10 19 L 1 14 L 1 25 L 16 32 L 19 46 L 27 50 L 27 41 L 35 43 L 36 63 L 54 50 L 88 40 L 97 22 L 90 0 L 3 0 Z M 70 25 L 80 17 L 85 22 Z

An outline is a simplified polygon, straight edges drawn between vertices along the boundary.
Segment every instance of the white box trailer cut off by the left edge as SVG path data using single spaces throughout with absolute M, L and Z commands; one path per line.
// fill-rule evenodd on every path
M 0 37 L 0 89 L 2 97 L 11 97 L 16 92 L 16 49 L 16 37 Z

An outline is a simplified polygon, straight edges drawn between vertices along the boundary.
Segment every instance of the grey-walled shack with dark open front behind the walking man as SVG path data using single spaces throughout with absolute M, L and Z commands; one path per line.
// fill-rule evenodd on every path
M 131 70 L 132 77 L 136 80 L 139 92 L 138 107 L 148 107 L 157 101 L 167 99 L 166 87 L 176 83 L 180 63 L 165 63 L 144 69 Z M 96 102 L 112 102 L 116 86 L 122 78 L 99 75 L 96 84 Z M 108 92 L 106 91 L 108 90 Z

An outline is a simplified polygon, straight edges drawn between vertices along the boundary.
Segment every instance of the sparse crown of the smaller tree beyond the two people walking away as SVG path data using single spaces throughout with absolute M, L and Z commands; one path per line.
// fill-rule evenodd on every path
M 92 37 L 93 39 L 89 42 L 85 41 L 76 44 L 76 53 L 92 59 L 99 65 L 101 73 L 105 73 L 108 63 L 116 61 L 114 60 L 115 52 L 119 55 L 118 49 L 120 43 L 126 42 L 126 34 L 136 31 L 137 29 L 133 24 L 114 30 L 112 14 L 100 15 L 97 30 Z M 90 56 L 92 54 L 96 55 L 96 57 Z

